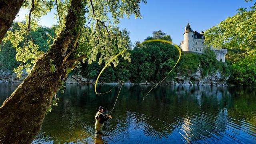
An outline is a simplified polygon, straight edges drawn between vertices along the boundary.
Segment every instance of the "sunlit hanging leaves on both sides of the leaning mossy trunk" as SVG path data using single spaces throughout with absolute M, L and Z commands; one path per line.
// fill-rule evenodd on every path
M 146 0 L 84 0 L 84 17 L 79 21 L 83 24 L 81 36 L 78 40 L 78 48 L 73 52 L 72 57 L 86 55 L 83 61 L 89 64 L 96 61 L 98 55 L 99 64 L 107 62 L 122 50 L 130 47 L 129 32 L 119 30 L 117 24 L 120 18 L 127 18 L 134 14 L 135 18 L 142 18 L 140 14 L 140 2 Z M 25 22 L 17 22 L 20 30 L 9 30 L 4 42 L 10 41 L 16 49 L 16 60 L 20 62 L 14 72 L 21 76 L 22 69 L 30 71 L 32 64 L 43 53 L 39 47 L 40 42 L 34 42 L 32 31 L 36 31 L 38 20 L 48 14 L 52 9 L 56 9 L 54 15 L 58 25 L 55 26 L 55 36 L 48 40 L 49 46 L 56 36 L 64 30 L 66 15 L 70 8 L 70 0 L 25 0 L 23 8 L 30 9 L 26 15 Z M 20 43 L 24 42 L 21 46 Z M 128 51 L 122 54 L 124 59 L 130 60 Z M 114 66 L 118 64 L 118 58 L 113 61 Z

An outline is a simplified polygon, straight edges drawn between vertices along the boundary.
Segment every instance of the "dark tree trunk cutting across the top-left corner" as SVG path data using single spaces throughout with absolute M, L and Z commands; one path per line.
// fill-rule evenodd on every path
M 24 0 L 0 0 L 0 43 L 18 14 Z

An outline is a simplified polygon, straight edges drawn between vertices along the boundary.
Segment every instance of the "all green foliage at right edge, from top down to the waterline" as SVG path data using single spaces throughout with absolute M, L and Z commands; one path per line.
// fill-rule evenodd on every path
M 228 48 L 227 59 L 232 62 L 230 83 L 256 84 L 256 3 L 249 10 L 239 8 L 237 14 L 206 30 L 204 34 L 207 44 Z

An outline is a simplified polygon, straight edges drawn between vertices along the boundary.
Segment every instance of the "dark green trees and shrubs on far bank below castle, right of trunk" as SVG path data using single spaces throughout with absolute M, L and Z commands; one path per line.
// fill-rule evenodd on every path
M 161 31 L 158 31 L 158 33 Z M 154 34 L 154 33 L 153 33 Z M 156 35 L 156 34 L 155 34 Z M 161 32 L 160 39 L 171 40 L 170 36 Z M 148 37 L 146 40 L 153 39 Z M 131 82 L 160 82 L 178 59 L 178 51 L 173 45 L 164 42 L 149 42 L 141 44 L 136 42 L 135 47 L 129 50 L 131 62 L 120 58 L 118 66 L 108 67 L 101 75 L 103 82 L 112 82 L 114 80 L 130 80 Z M 82 65 L 84 76 L 96 79 L 104 64 L 98 65 L 98 62 Z M 166 80 L 173 80 L 176 76 L 188 77 L 198 70 L 202 69 L 203 77 L 220 70 L 224 76 L 230 76 L 231 65 L 229 63 L 219 62 L 215 53 L 210 49 L 205 49 L 204 54 L 194 52 L 182 52 L 180 62 L 174 70 L 168 75 Z M 114 72 L 112 71 L 114 70 Z M 113 75 L 114 74 L 114 75 Z M 178 75 L 177 75 L 178 74 Z

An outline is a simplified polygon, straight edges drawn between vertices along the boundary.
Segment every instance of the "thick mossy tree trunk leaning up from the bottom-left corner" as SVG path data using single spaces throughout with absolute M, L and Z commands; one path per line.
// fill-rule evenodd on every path
M 46 110 L 67 73 L 66 56 L 80 30 L 82 0 L 72 0 L 66 27 L 30 74 L 0 107 L 0 143 L 28 144 L 37 136 Z M 56 66 L 50 72 L 50 59 Z

